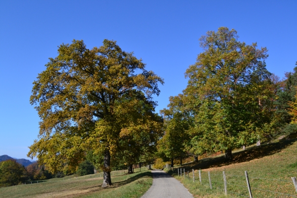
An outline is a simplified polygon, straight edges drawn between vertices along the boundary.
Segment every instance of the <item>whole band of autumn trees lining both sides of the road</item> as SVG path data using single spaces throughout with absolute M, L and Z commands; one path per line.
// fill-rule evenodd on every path
M 34 81 L 30 102 L 41 122 L 28 156 L 51 173 L 73 173 L 88 159 L 103 170 L 105 187 L 112 168 L 132 173 L 132 164 L 153 161 L 156 148 L 171 163 L 221 150 L 231 160 L 234 148 L 292 131 L 287 109 L 296 73 L 280 82 L 266 69 L 267 49 L 239 42 L 233 29 L 207 32 L 200 45 L 187 88 L 170 98 L 162 116 L 152 96 L 163 79 L 142 59 L 114 41 L 93 49 L 76 40 L 60 45 Z

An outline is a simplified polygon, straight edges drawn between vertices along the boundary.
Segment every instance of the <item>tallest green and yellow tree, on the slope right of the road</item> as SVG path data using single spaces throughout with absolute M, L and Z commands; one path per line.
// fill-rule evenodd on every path
M 226 27 L 199 40 L 204 51 L 186 71 L 185 94 L 196 97 L 199 109 L 189 130 L 192 152 L 225 150 L 231 160 L 233 148 L 261 139 L 272 116 L 267 49 L 239 42 L 237 32 Z

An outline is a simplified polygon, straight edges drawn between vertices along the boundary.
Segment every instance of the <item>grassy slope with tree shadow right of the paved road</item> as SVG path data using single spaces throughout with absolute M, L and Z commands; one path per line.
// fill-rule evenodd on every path
M 228 183 L 227 197 L 248 196 L 244 171 L 248 172 L 254 198 L 292 197 L 285 194 L 297 196 L 291 180 L 291 177 L 297 177 L 297 139 L 261 147 L 253 146 L 233 153 L 232 162 L 225 162 L 224 156 L 219 155 L 184 165 L 182 168 L 185 168 L 186 172 L 195 170 L 195 183 L 193 183 L 193 172 L 189 174 L 190 180 L 187 174 L 186 179 L 184 176 L 178 177 L 177 173 L 173 173 L 173 176 L 181 181 L 195 197 L 225 197 L 222 171 L 225 171 Z M 201 169 L 201 184 L 198 169 Z M 211 175 L 212 190 L 209 187 L 208 171 Z

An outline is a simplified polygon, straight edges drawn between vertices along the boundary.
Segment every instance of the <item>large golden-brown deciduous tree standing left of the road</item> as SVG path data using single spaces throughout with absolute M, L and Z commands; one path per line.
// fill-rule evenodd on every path
M 142 101 L 152 111 L 151 96 L 159 94 L 158 83 L 163 80 L 147 71 L 133 53 L 108 40 L 93 49 L 87 49 L 83 41 L 62 44 L 46 67 L 34 81 L 30 98 L 41 122 L 39 140 L 28 156 L 37 156 L 40 164 L 56 172 L 65 164 L 75 169 L 86 151 L 96 149 L 103 154 L 102 187 L 111 185 L 110 159 L 120 143 L 128 141 L 129 134 L 144 130 L 153 134 L 160 128 L 160 122 L 146 113 L 139 118 L 146 121 L 130 115 L 133 119 L 124 125 L 130 113 L 127 104 Z

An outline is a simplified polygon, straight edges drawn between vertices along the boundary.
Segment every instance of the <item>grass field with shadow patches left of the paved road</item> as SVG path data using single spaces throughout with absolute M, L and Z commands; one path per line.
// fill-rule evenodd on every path
M 127 170 L 126 170 L 127 173 Z M 152 184 L 151 172 L 147 168 L 134 169 L 133 174 L 113 171 L 113 186 L 101 188 L 102 177 L 97 173 L 82 177 L 68 176 L 0 188 L 1 198 L 140 198 Z

